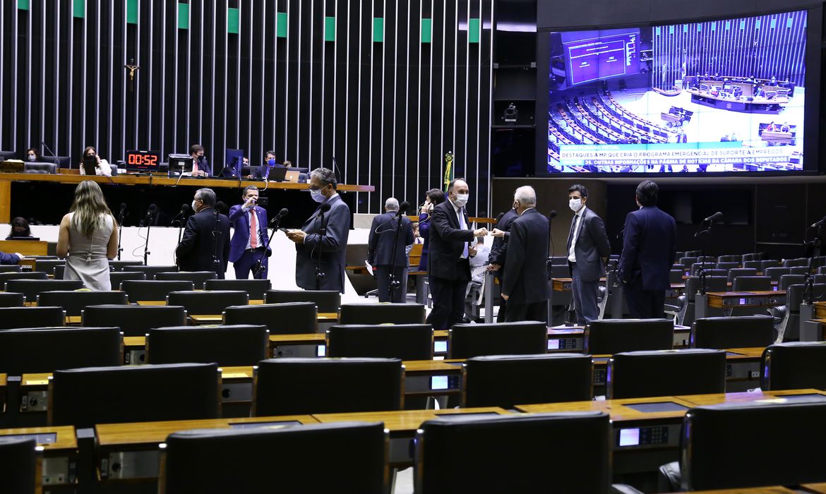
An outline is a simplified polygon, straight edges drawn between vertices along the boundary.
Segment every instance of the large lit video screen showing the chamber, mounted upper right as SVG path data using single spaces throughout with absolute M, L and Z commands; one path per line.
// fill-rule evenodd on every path
M 805 11 L 550 33 L 547 172 L 803 170 L 806 35 Z

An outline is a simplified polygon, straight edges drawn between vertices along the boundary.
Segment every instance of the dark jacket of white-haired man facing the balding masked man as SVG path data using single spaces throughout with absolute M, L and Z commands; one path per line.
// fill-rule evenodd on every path
M 550 298 L 548 289 L 548 218 L 535 208 L 510 223 L 502 293 L 508 303 L 530 304 Z

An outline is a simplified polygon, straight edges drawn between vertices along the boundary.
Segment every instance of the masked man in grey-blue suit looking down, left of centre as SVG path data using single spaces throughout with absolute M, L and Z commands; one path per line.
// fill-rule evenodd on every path
M 335 173 L 314 169 L 310 173 L 310 193 L 320 206 L 301 226 L 287 230 L 287 238 L 296 243 L 296 284 L 305 290 L 338 290 L 344 293 L 344 256 L 350 233 L 350 208 L 335 192 Z M 324 212 L 322 209 L 329 210 Z M 323 216 L 323 217 L 322 217 Z M 321 235 L 322 230 L 325 235 Z M 321 258 L 316 277 L 316 262 Z

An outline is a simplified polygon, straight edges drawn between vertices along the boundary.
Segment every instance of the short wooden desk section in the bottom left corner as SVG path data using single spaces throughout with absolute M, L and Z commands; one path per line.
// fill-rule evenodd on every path
M 68 487 L 77 483 L 78 439 L 74 427 L 2 429 L 0 436 L 33 437 L 37 445 L 43 447 L 43 466 L 40 469 L 43 487 Z

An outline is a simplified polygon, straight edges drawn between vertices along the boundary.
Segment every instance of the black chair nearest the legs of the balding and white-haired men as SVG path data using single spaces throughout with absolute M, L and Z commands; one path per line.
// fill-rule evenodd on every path
M 457 324 L 448 331 L 448 358 L 533 355 L 548 351 L 548 325 L 539 321 Z

